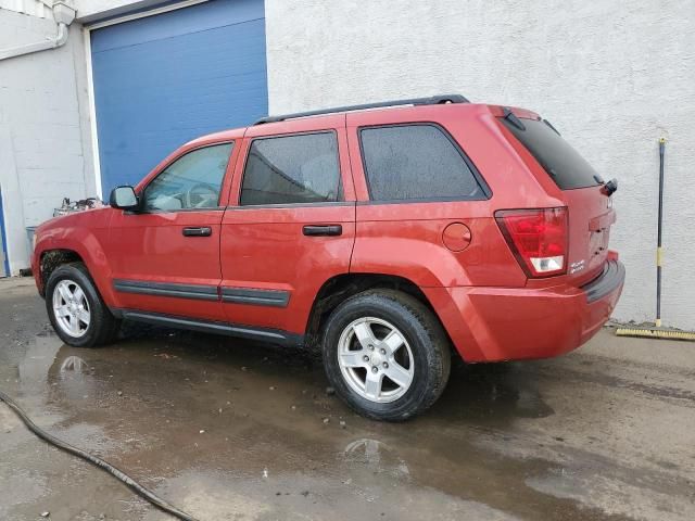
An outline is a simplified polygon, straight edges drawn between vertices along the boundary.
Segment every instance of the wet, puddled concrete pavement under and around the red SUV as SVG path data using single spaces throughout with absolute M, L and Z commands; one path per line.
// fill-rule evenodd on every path
M 386 424 L 302 352 L 139 327 L 72 348 L 30 279 L 0 280 L 0 389 L 200 520 L 695 519 L 693 343 L 604 331 L 553 360 L 457 367 L 429 412 Z M 0 404 L 0 520 L 45 511 L 170 519 Z

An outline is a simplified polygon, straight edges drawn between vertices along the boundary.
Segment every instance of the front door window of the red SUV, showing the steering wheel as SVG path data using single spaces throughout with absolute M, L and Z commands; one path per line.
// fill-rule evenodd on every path
M 179 157 L 144 189 L 149 212 L 216 208 L 233 143 L 193 150 Z

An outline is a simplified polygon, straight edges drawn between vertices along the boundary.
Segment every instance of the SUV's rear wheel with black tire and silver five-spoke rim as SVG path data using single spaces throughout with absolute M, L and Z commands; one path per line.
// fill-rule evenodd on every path
M 403 421 L 429 408 L 451 370 L 448 338 L 417 298 L 370 290 L 342 303 L 321 338 L 326 374 L 348 405 L 376 420 Z

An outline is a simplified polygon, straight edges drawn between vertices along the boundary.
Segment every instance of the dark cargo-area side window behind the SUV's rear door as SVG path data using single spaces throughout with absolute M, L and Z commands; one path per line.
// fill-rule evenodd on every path
M 485 199 L 472 165 L 434 125 L 397 125 L 359 131 L 372 201 Z

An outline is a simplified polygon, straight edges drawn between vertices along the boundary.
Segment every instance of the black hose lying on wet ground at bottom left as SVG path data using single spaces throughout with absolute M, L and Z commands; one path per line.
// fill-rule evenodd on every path
M 125 472 L 116 469 L 113 465 L 80 448 L 74 447 L 73 445 L 65 443 L 62 440 L 59 440 L 58 437 L 52 436 L 48 432 L 43 431 L 41 428 L 39 428 L 36 423 L 34 423 L 29 419 L 26 412 L 24 412 L 24 410 L 22 410 L 22 408 L 10 396 L 4 394 L 2 391 L 0 391 L 0 402 L 4 402 L 8 405 L 8 407 L 10 407 L 20 417 L 20 419 L 24 422 L 27 429 L 31 431 L 34 434 L 36 434 L 37 436 L 39 436 L 41 440 L 50 443 L 51 445 L 60 448 L 61 450 L 65 450 L 66 453 L 77 456 L 78 458 L 89 461 L 96 467 L 99 467 L 100 469 L 105 470 L 111 475 L 116 478 L 118 481 L 125 483 L 131 491 L 134 491 L 140 497 L 150 501 L 160 510 L 166 513 L 170 513 L 172 516 L 180 519 L 181 521 L 197 521 L 195 518 L 193 518 L 192 516 L 179 510 L 173 505 L 169 505 L 164 499 L 156 496 L 154 493 L 148 491 L 144 486 L 140 485 L 138 482 L 136 482 L 132 478 L 130 478 Z

